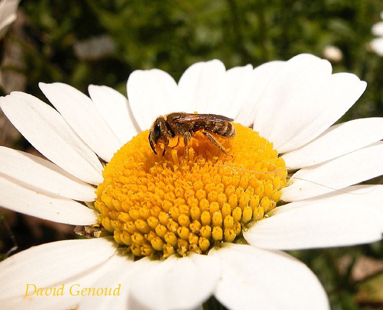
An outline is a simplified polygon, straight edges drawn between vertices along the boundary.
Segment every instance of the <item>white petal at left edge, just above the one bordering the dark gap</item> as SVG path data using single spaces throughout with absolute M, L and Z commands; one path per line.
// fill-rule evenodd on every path
M 55 164 L 5 146 L 0 146 L 0 173 L 54 195 L 78 201 L 94 201 L 96 197 L 95 187 Z

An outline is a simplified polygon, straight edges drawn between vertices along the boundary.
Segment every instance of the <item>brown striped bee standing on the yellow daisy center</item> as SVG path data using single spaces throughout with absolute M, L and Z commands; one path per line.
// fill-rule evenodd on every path
M 186 156 L 187 146 L 192 135 L 197 131 L 201 131 L 222 152 L 231 156 L 212 134 L 225 138 L 234 138 L 236 133 L 234 125 L 230 123 L 232 121 L 234 120 L 223 115 L 173 112 L 160 116 L 154 121 L 149 130 L 149 144 L 153 152 L 157 154 L 155 145 L 159 139 L 162 139 L 168 145 L 170 139 L 176 137 L 176 135 L 181 135 L 184 137 Z M 165 152 L 166 148 L 164 148 L 163 156 Z

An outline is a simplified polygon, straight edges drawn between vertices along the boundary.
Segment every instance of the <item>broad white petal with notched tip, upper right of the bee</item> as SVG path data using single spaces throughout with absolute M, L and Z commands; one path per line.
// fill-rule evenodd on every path
M 305 145 L 338 120 L 359 98 L 366 82 L 350 73 L 331 75 L 327 60 L 293 57 L 262 94 L 254 130 L 279 153 Z

